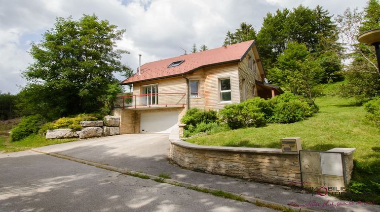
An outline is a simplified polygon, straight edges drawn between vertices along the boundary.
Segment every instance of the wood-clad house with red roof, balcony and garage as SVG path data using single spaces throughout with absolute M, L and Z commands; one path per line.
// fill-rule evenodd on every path
M 218 111 L 283 92 L 265 78 L 254 40 L 146 63 L 121 84 L 133 84 L 114 111 L 122 134 L 168 133 L 187 109 Z

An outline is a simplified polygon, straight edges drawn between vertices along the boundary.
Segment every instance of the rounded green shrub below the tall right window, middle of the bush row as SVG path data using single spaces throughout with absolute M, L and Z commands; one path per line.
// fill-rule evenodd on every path
M 267 124 L 265 114 L 251 101 L 225 105 L 220 118 L 231 128 L 261 127 Z

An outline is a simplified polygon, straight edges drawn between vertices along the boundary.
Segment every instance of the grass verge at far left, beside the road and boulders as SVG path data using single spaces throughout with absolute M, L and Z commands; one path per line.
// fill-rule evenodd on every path
M 22 151 L 22 150 L 27 150 L 31 148 L 77 140 L 77 139 L 46 139 L 45 137 L 41 137 L 38 135 L 31 135 L 19 141 L 12 142 L 10 141 L 8 132 L 14 126 L 17 125 L 18 121 L 15 121 L 15 122 L 1 121 L 0 122 L 0 153 Z

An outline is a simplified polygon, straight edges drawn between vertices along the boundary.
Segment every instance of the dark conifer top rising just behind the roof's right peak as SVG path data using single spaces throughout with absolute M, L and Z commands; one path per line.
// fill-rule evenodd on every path
M 236 29 L 234 33 L 227 31 L 223 45 L 231 45 L 254 39 L 256 39 L 256 31 L 253 29 L 252 24 L 242 22 L 240 28 Z

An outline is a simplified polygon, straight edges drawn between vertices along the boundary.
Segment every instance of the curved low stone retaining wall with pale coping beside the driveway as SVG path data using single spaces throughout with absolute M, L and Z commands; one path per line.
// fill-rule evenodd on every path
M 178 133 L 178 130 L 173 130 L 170 134 L 169 157 L 186 169 L 279 185 L 301 181 L 297 152 L 201 146 L 180 140 Z

